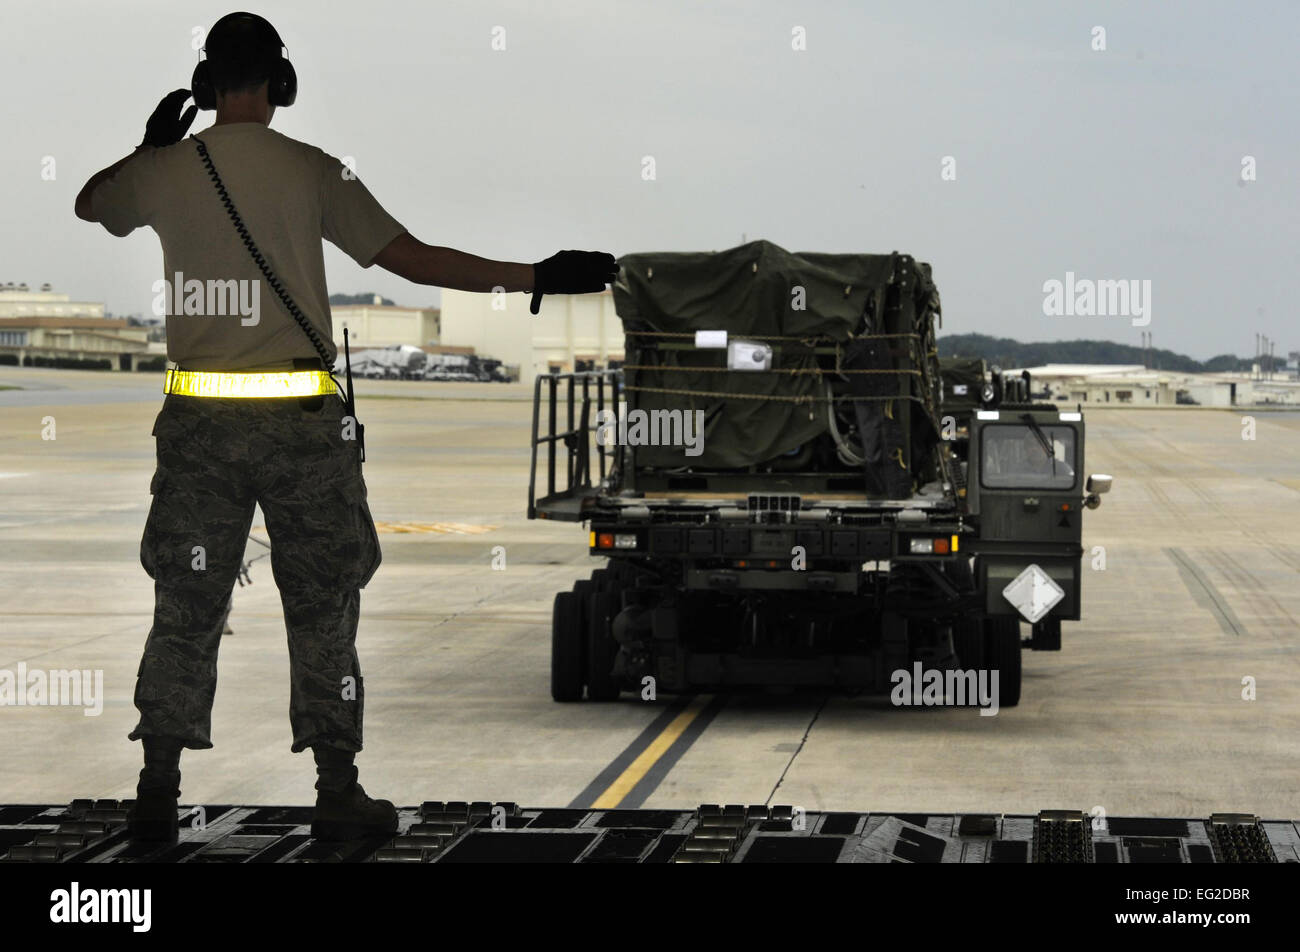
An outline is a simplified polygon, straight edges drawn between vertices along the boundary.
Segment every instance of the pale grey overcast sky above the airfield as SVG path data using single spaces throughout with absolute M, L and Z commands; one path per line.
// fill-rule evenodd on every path
M 1149 280 L 1158 347 L 1251 354 L 1262 332 L 1300 350 L 1295 3 L 246 8 L 276 25 L 298 70 L 298 103 L 272 126 L 354 156 L 433 245 L 524 261 L 741 235 L 897 248 L 933 265 L 944 333 L 1138 343 L 1128 317 L 1044 315 L 1044 282 L 1074 272 Z M 73 199 L 139 143 L 165 92 L 188 86 L 194 30 L 231 9 L 5 1 L 0 282 L 49 281 L 148 313 L 153 233 L 114 239 L 78 221 Z M 806 49 L 792 49 L 796 27 Z M 1245 156 L 1256 181 L 1243 181 Z M 332 293 L 437 300 L 333 246 L 326 264 Z

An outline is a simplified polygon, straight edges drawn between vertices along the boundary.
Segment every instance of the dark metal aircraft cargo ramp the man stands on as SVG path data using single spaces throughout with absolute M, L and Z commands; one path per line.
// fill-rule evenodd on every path
M 803 813 L 790 806 L 696 810 L 521 809 L 428 801 L 400 810 L 394 838 L 325 843 L 311 808 L 182 808 L 174 845 L 134 843 L 130 801 L 0 808 L 0 862 L 1300 862 L 1300 823 L 1204 818 Z

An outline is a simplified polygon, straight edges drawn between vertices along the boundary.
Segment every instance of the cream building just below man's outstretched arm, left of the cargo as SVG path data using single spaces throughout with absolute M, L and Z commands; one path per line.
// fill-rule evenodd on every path
M 525 384 L 538 373 L 623 363 L 623 323 L 611 291 L 547 294 L 538 315 L 528 310 L 530 298 L 443 290 L 442 343 L 519 367 Z M 502 310 L 493 310 L 494 302 Z

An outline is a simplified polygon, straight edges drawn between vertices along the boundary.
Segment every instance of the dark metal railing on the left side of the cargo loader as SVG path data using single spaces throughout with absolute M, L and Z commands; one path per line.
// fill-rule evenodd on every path
M 602 410 L 619 411 L 621 371 L 542 373 L 533 381 L 532 464 L 528 473 L 528 518 L 578 522 L 582 501 L 593 496 L 612 467 L 621 462 L 621 446 L 595 438 Z M 546 432 L 542 402 L 546 402 Z M 560 425 L 560 403 L 564 429 Z M 595 483 L 592 481 L 592 443 L 595 443 Z M 564 453 L 560 453 L 560 445 Z M 537 450 L 546 446 L 546 492 L 537 497 Z M 563 472 L 559 472 L 563 460 Z M 563 477 L 563 483 L 560 483 Z

